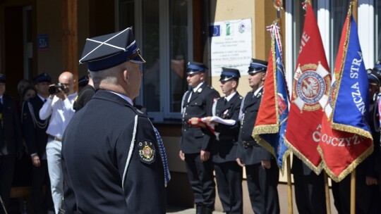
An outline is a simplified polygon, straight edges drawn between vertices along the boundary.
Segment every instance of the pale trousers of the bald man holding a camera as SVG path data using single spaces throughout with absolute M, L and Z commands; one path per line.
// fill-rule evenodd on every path
M 48 139 L 47 143 L 47 163 L 50 177 L 50 187 L 54 211 L 59 213 L 63 199 L 63 172 L 61 166 L 61 141 Z

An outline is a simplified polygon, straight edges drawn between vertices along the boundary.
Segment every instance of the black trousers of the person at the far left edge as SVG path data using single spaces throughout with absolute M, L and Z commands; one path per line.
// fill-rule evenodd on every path
M 15 161 L 16 159 L 13 155 L 0 156 L 0 196 L 6 208 L 8 208 L 9 199 L 11 198 Z M 0 213 L 5 213 L 1 205 Z

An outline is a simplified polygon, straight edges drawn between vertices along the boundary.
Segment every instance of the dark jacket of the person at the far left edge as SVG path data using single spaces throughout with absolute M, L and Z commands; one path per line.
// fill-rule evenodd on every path
M 1 145 L 6 144 L 8 154 L 15 155 L 23 149 L 23 137 L 21 135 L 20 116 L 16 107 L 16 102 L 11 96 L 3 95 L 3 110 L 1 115 Z M 2 133 L 1 133 L 2 132 Z M 3 141 L 4 140 L 4 141 Z

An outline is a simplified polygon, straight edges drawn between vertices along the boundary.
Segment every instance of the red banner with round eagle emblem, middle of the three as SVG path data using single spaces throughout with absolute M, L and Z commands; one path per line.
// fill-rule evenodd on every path
M 317 145 L 331 75 L 315 13 L 310 4 L 306 4 L 306 10 L 285 143 L 298 158 L 319 174 L 322 168 Z

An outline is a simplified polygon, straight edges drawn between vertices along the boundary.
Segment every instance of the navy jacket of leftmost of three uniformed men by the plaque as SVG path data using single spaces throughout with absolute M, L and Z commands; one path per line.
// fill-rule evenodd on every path
M 191 99 L 188 102 L 190 94 Z M 211 151 L 214 142 L 214 134 L 208 129 L 188 125 L 191 118 L 205 118 L 212 115 L 214 99 L 219 94 L 204 82 L 195 93 L 186 92 L 183 96 L 183 127 L 181 134 L 180 149 L 183 153 L 200 153 L 201 150 Z

